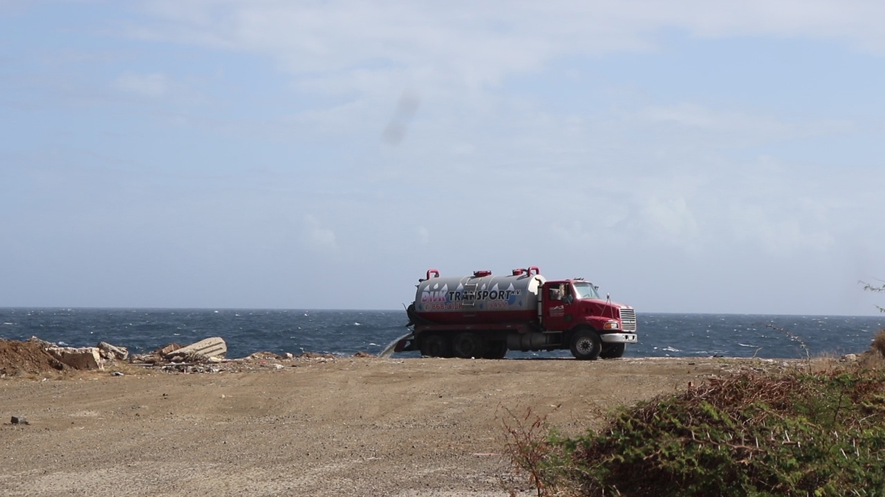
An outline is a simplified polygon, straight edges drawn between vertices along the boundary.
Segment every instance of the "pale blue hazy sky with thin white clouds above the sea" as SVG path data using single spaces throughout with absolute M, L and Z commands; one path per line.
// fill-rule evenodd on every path
M 875 315 L 885 4 L 0 0 L 0 307 L 402 309 L 539 266 Z

